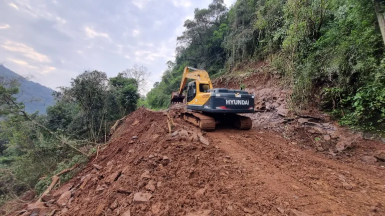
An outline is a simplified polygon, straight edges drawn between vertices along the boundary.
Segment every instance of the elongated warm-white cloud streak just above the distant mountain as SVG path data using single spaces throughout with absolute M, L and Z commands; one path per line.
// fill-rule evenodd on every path
M 1 47 L 5 48 L 6 50 L 12 51 L 12 52 L 18 52 L 32 60 L 38 61 L 38 62 L 51 62 L 50 58 L 42 53 L 39 53 L 35 51 L 34 48 L 19 42 L 14 42 L 11 40 L 7 40 L 4 42 Z

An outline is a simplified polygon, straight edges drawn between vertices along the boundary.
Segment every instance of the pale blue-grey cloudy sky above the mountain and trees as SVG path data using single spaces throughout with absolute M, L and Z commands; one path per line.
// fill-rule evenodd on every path
M 148 91 L 174 60 L 184 20 L 211 2 L 0 0 L 0 63 L 53 89 L 84 70 L 113 77 L 138 64 L 151 72 Z

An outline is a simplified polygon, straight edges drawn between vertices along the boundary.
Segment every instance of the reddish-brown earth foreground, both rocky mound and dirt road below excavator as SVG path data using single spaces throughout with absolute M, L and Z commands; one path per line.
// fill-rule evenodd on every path
M 10 215 L 385 213 L 385 170 L 377 164 L 328 158 L 263 128 L 204 133 L 175 118 L 169 133 L 166 119 L 132 113 L 75 178 Z

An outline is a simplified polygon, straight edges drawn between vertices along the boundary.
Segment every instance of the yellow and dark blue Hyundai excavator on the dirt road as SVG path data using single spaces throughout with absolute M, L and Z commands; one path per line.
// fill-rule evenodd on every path
M 187 79 L 193 81 L 187 84 Z M 180 116 L 201 130 L 213 131 L 217 123 L 248 130 L 253 126 L 251 118 L 238 114 L 254 113 L 254 97 L 242 89 L 213 88 L 206 70 L 185 67 L 179 91 L 171 93 L 171 103 L 185 101 L 187 110 Z

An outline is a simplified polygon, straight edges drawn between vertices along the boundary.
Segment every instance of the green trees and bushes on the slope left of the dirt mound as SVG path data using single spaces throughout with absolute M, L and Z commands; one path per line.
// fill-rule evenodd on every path
M 126 72 L 108 78 L 85 71 L 69 87 L 60 87 L 56 103 L 41 115 L 27 112 L 28 104 L 17 100 L 20 77 L 0 79 L 0 204 L 28 189 L 41 193 L 52 175 L 87 161 L 115 120 L 136 109 L 142 87 Z

